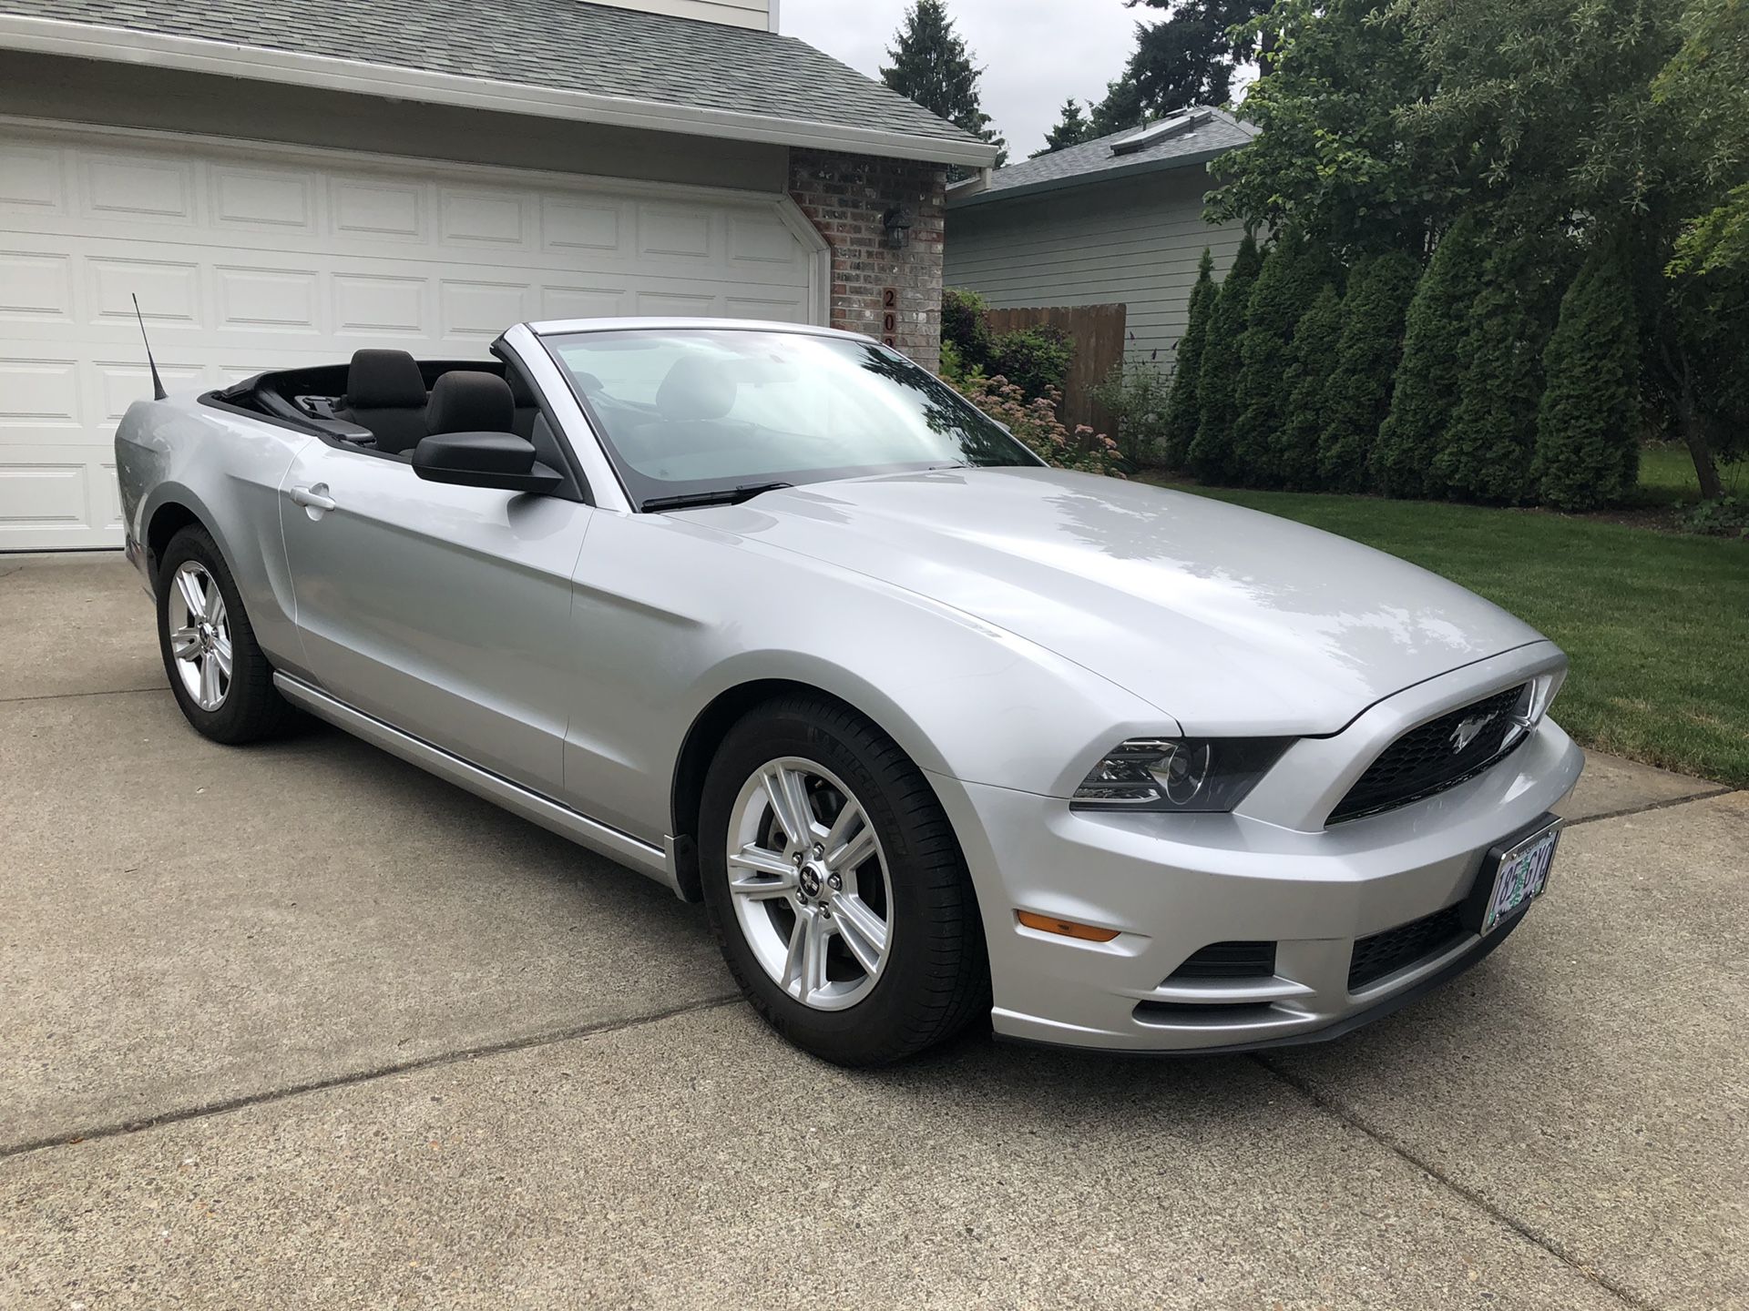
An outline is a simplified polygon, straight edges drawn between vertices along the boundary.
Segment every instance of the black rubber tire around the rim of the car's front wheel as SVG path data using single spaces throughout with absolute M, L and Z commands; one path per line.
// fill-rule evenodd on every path
M 778 757 L 812 760 L 843 780 L 887 855 L 890 956 L 868 996 L 843 1010 L 819 1010 L 785 993 L 735 914 L 728 871 L 735 802 L 754 773 Z M 710 926 L 742 993 L 806 1052 L 845 1066 L 890 1065 L 988 1014 L 978 897 L 948 816 L 904 752 L 847 706 L 785 696 L 729 729 L 705 780 L 700 872 Z

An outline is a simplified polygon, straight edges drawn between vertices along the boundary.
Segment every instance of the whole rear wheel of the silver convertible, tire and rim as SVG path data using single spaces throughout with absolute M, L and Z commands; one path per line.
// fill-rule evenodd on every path
M 170 690 L 203 736 L 255 741 L 294 717 L 255 645 L 231 570 L 199 524 L 170 538 L 157 565 L 157 645 Z

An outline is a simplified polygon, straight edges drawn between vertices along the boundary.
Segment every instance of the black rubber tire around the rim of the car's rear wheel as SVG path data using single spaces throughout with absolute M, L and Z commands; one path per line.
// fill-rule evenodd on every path
M 217 584 L 231 629 L 231 680 L 217 710 L 201 710 L 189 694 L 177 668 L 177 657 L 170 649 L 171 608 L 178 605 L 175 577 L 187 561 L 199 563 Z M 163 559 L 157 561 L 156 593 L 157 650 L 164 657 L 164 676 L 170 678 L 170 690 L 194 731 L 203 738 L 233 746 L 283 732 L 296 720 L 297 711 L 273 685 L 273 666 L 255 645 L 255 629 L 250 628 L 236 580 L 205 528 L 189 524 L 170 538 Z

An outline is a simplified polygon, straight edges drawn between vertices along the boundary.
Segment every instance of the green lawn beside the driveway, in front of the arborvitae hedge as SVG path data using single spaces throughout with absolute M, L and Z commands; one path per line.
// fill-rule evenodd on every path
M 1352 537 L 1481 593 L 1572 657 L 1555 718 L 1581 743 L 1749 787 L 1749 544 L 1536 510 L 1182 489 Z

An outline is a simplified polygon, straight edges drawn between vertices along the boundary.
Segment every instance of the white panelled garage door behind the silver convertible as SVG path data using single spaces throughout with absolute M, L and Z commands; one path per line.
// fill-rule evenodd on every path
M 820 250 L 778 196 L 0 128 L 0 551 L 121 544 L 133 294 L 175 392 L 360 346 L 486 357 L 528 318 L 812 322 Z

